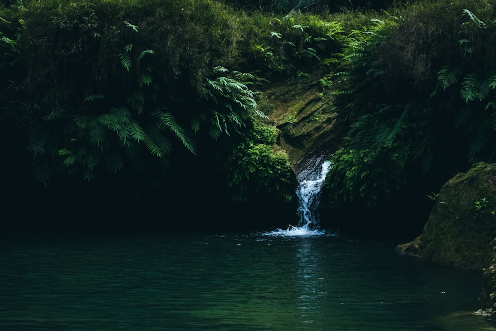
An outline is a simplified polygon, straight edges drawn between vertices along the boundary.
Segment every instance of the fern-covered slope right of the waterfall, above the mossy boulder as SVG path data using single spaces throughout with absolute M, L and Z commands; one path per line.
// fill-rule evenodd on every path
M 350 32 L 333 82 L 354 123 L 334 162 L 347 166 L 329 176 L 333 205 L 360 198 L 373 205 L 407 178 L 425 177 L 425 189 L 438 190 L 473 162 L 494 160 L 491 8 L 418 1 Z

